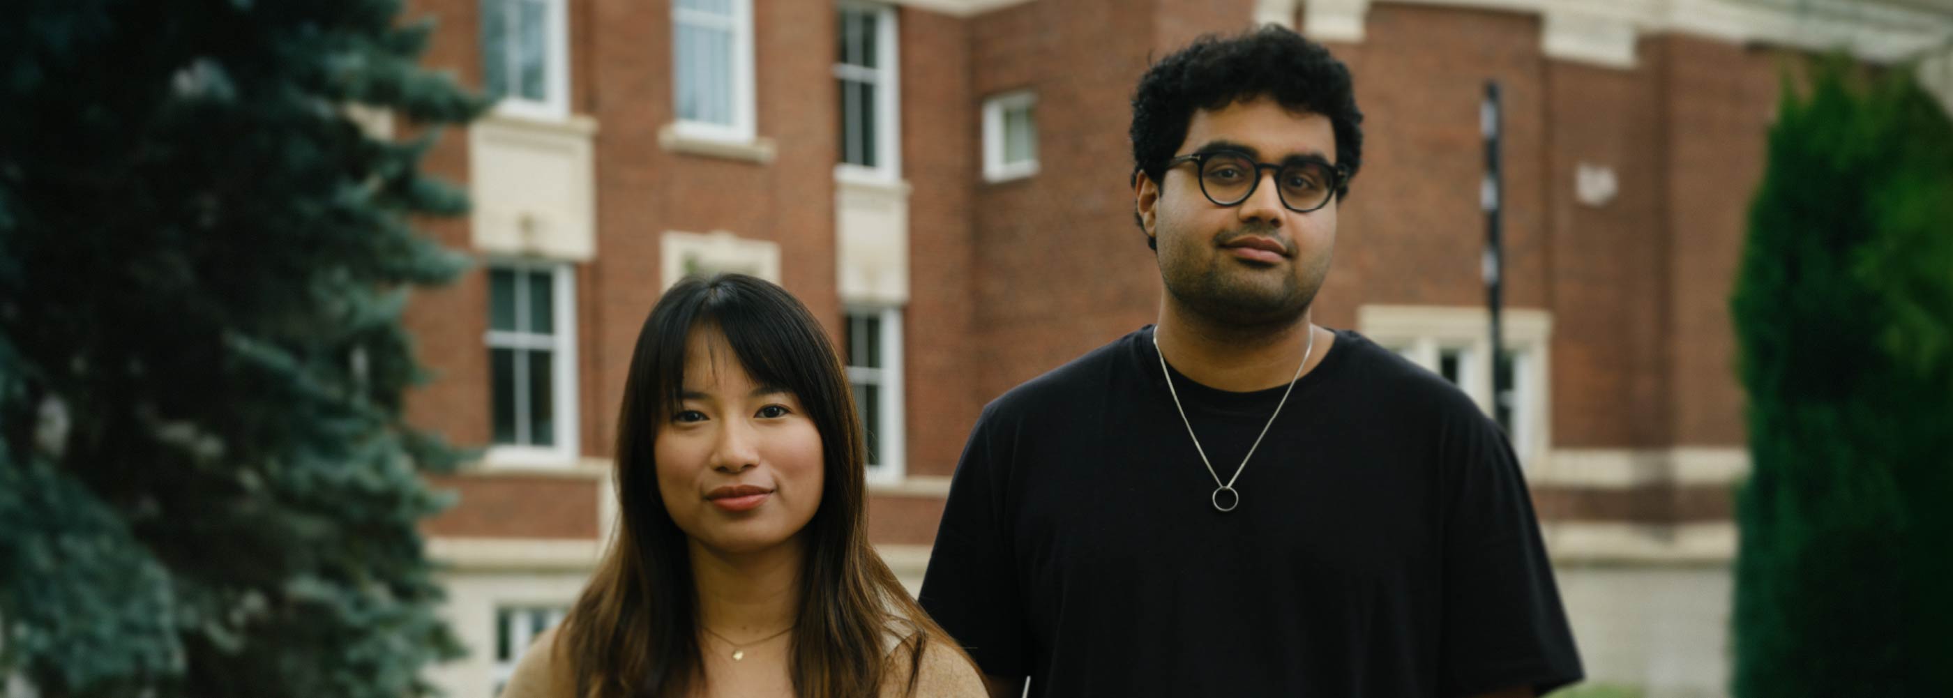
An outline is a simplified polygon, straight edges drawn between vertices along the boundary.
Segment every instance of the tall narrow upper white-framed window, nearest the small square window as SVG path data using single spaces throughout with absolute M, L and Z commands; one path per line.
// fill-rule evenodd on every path
M 834 80 L 840 90 L 842 133 L 836 168 L 842 175 L 900 177 L 900 113 L 896 105 L 894 8 L 848 2 L 836 18 Z

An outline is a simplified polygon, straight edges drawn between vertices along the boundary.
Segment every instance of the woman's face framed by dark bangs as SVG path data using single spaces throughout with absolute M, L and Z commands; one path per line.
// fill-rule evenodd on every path
M 719 328 L 686 339 L 682 402 L 652 452 L 672 521 L 721 554 L 795 540 L 820 509 L 820 431 L 795 394 L 754 384 Z

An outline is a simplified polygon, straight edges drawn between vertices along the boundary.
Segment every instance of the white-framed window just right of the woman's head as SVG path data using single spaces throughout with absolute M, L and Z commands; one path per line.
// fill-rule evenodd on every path
M 867 480 L 902 480 L 902 308 L 848 308 L 848 382 L 867 431 Z

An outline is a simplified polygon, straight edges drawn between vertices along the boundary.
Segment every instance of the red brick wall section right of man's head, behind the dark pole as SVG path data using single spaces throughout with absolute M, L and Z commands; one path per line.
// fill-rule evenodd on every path
M 1478 103 L 1488 78 L 1504 101 L 1506 306 L 1545 304 L 1537 37 L 1537 18 L 1521 14 L 1373 6 L 1363 43 L 1330 45 L 1355 76 L 1363 170 L 1342 203 L 1316 322 L 1353 328 L 1361 304 L 1484 304 Z

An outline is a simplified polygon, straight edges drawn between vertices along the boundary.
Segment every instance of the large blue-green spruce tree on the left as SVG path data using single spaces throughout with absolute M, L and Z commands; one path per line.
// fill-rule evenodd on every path
M 0 23 L 0 677 L 43 696 L 430 694 L 410 216 L 482 103 L 398 0 L 23 0 Z

